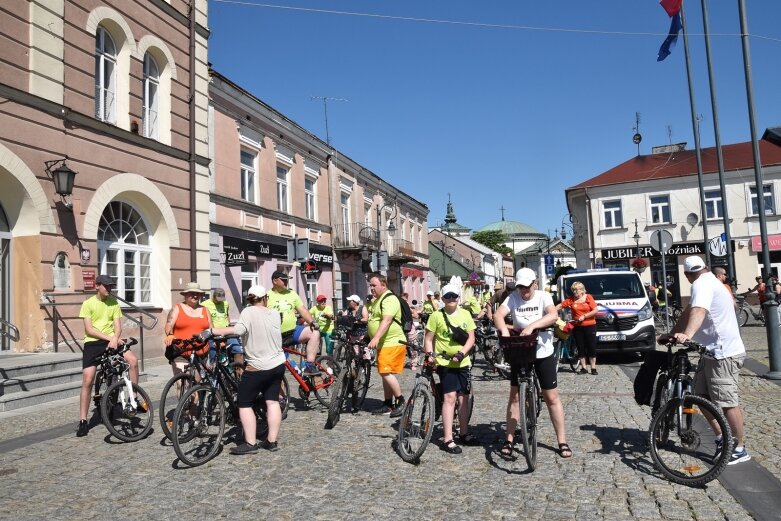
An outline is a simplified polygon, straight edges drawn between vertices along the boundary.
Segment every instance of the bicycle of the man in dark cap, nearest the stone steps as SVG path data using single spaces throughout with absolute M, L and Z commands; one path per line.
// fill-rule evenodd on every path
M 138 343 L 135 338 L 106 349 L 98 358 L 95 373 L 95 393 L 92 397 L 95 405 L 100 403 L 100 417 L 103 425 L 115 438 L 125 441 L 138 441 L 152 429 L 152 401 L 141 386 L 130 381 L 130 364 L 124 353 Z M 105 392 L 101 392 L 104 389 Z

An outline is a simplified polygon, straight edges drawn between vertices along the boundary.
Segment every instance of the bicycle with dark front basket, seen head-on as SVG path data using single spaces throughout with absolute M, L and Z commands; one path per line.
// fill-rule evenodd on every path
M 542 405 L 542 391 L 533 364 L 537 360 L 537 331 L 531 335 L 499 337 L 505 360 L 518 371 L 518 397 L 524 456 L 529 470 L 537 468 L 537 419 Z M 513 441 L 515 438 L 513 438 Z

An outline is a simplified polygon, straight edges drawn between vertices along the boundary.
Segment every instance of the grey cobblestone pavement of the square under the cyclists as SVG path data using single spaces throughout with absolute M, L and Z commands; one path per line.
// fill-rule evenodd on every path
M 755 329 L 747 343 L 759 356 L 764 334 Z M 343 415 L 327 431 L 325 410 L 300 402 L 283 422 L 278 452 L 239 457 L 226 450 L 195 469 L 181 468 L 157 424 L 137 443 L 117 443 L 101 425 L 76 438 L 75 399 L 2 414 L 0 519 L 751 519 L 719 482 L 691 489 L 655 471 L 645 448 L 649 409 L 635 404 L 619 367 L 633 362 L 609 362 L 598 376 L 560 373 L 574 456 L 554 452 L 543 411 L 534 472 L 522 455 L 498 455 L 508 384 L 484 375 L 479 362 L 472 432 L 482 445 L 449 455 L 440 440 L 419 465 L 391 450 L 395 421 L 387 416 Z M 157 376 L 144 387 L 159 397 L 169 370 L 147 370 Z M 781 387 L 746 370 L 742 376 L 748 448 L 781 476 L 781 429 L 771 410 Z M 405 392 L 411 382 L 407 371 Z M 378 405 L 381 394 L 374 374 L 365 407 Z

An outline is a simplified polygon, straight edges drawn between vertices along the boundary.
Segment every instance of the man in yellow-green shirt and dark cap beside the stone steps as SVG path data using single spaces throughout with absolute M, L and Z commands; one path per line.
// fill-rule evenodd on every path
M 84 319 L 84 353 L 82 356 L 81 393 L 79 395 L 79 428 L 76 436 L 86 436 L 89 431 L 87 413 L 90 394 L 95 381 L 97 363 L 107 349 L 116 349 L 125 343 L 122 335 L 122 310 L 117 299 L 111 295 L 114 281 L 108 275 L 95 279 L 95 295 L 81 305 L 79 318 Z M 125 360 L 130 364 L 130 380 L 138 383 L 138 358 L 132 351 L 125 351 Z

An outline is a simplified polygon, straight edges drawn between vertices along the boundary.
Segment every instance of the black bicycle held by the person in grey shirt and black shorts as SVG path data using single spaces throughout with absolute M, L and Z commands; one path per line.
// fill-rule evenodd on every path
M 172 441 L 179 461 L 190 467 L 203 465 L 214 458 L 222 448 L 226 422 L 241 425 L 239 420 L 239 380 L 228 362 L 226 337 L 213 337 L 217 344 L 218 363 L 207 371 L 207 376 L 198 385 L 188 389 L 179 400 L 174 412 Z M 287 381 L 282 377 L 282 388 Z M 283 398 L 280 392 L 279 399 Z M 283 410 L 286 405 L 280 403 Z M 266 421 L 266 400 L 259 396 L 252 405 L 259 428 L 257 436 L 262 439 L 268 432 Z

